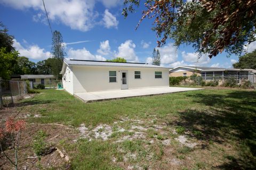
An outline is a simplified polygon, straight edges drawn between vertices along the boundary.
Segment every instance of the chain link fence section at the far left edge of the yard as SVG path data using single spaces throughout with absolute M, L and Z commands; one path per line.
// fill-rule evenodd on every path
M 7 107 L 27 94 L 26 81 L 0 80 L 0 107 Z

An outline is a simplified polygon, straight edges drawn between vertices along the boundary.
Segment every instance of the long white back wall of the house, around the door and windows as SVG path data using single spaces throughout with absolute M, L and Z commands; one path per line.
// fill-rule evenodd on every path
M 153 86 L 169 86 L 169 69 L 143 67 L 73 66 L 73 93 L 120 90 L 121 70 L 128 71 L 127 84 L 129 89 Z M 109 71 L 116 71 L 117 82 L 109 82 Z M 134 71 L 141 72 L 141 79 L 134 79 Z M 155 71 L 162 71 L 162 79 L 155 79 Z

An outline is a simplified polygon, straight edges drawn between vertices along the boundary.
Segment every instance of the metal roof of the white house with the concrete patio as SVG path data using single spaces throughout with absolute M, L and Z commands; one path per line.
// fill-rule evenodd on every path
M 145 68 L 159 68 L 171 69 L 170 67 L 152 65 L 148 63 L 121 63 L 121 62 L 106 62 L 106 61 L 91 61 L 91 60 L 64 60 L 60 74 L 65 72 L 66 65 L 78 66 L 119 66 L 119 67 L 145 67 Z

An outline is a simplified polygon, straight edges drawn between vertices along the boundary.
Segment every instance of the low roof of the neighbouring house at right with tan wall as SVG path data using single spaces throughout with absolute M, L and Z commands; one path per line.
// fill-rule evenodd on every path
M 202 67 L 202 66 L 178 66 L 170 70 L 172 72 L 175 69 L 178 68 L 186 68 L 186 69 L 191 69 L 191 70 L 199 70 L 199 71 L 256 71 L 253 69 L 226 69 L 226 68 L 221 68 L 221 67 Z

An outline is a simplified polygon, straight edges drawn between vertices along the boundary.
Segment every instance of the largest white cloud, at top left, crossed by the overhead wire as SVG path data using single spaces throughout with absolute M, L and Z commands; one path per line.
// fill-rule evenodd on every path
M 33 17 L 34 21 L 45 20 L 43 2 L 39 0 L 2 0 L 0 3 L 9 5 L 19 10 L 33 8 L 38 11 Z M 98 13 L 93 11 L 95 1 L 93 0 L 51 0 L 45 1 L 45 7 L 49 19 L 61 22 L 71 29 L 87 31 L 95 25 Z

